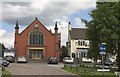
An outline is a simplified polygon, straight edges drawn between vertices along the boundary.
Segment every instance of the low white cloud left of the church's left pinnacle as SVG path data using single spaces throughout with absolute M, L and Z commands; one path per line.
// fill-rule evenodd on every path
M 0 29 L 0 43 L 3 43 L 7 48 L 13 47 L 14 33 L 9 33 L 4 29 Z

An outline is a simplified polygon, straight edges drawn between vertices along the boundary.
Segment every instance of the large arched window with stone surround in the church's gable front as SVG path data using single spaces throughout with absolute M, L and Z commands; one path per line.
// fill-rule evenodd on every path
M 43 33 L 39 30 L 34 30 L 29 33 L 30 45 L 44 45 Z

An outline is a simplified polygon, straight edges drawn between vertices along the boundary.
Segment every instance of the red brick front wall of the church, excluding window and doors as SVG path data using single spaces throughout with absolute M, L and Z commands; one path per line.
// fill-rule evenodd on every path
M 48 31 L 37 19 L 34 20 L 25 30 L 20 34 L 15 33 L 15 42 L 14 47 L 16 49 L 16 57 L 25 56 L 28 57 L 29 48 L 32 47 L 29 45 L 29 32 L 36 30 L 34 27 L 35 24 L 38 24 L 38 29 L 44 34 L 44 46 L 33 46 L 44 48 L 44 59 L 47 59 L 50 56 L 59 57 L 60 47 L 58 45 L 58 33 L 53 35 Z

